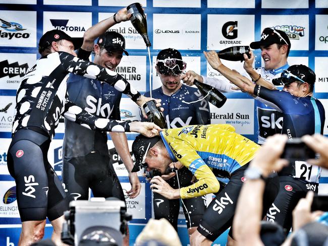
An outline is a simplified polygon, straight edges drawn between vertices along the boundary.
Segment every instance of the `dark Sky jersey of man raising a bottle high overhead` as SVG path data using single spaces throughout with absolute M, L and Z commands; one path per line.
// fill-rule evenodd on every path
M 91 52 L 78 50 L 79 58 L 88 59 Z M 121 120 L 120 102 L 122 92 L 113 86 L 94 79 L 70 74 L 67 81 L 68 99 L 81 106 L 85 111 L 99 118 Z M 108 155 L 107 133 L 91 131 L 75 122 L 65 120 L 64 138 L 65 157 L 85 156 L 93 150 Z

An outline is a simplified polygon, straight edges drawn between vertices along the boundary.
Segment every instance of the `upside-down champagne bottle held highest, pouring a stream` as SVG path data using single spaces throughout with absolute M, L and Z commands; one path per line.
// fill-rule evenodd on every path
M 146 46 L 151 46 L 147 33 L 147 21 L 142 7 L 139 3 L 130 4 L 127 7 L 128 13 L 131 13 L 130 21 L 138 33 L 142 36 Z

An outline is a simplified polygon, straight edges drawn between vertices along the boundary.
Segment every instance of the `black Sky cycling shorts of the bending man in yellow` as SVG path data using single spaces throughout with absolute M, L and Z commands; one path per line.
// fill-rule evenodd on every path
M 222 191 L 218 192 L 213 201 L 208 205 L 197 227 L 197 230 L 211 241 L 214 241 L 232 225 L 239 193 L 243 182 L 245 182 L 244 171 L 247 166 L 248 164 L 240 167 L 231 174 L 228 184 Z M 278 175 L 268 178 L 263 195 L 263 217 L 267 208 L 275 200 L 278 191 Z M 229 235 L 232 236 L 232 228 L 230 229 Z

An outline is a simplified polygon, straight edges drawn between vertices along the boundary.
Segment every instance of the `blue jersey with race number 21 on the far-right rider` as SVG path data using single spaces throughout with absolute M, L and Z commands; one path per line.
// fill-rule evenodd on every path
M 256 85 L 254 95 L 275 104 L 281 109 L 284 124 L 282 134 L 288 138 L 300 138 L 314 133 L 323 134 L 325 120 L 324 108 L 318 99 L 311 96 L 296 97 L 287 91 L 269 90 Z M 305 161 L 295 161 L 280 171 L 280 175 L 292 175 L 307 182 L 318 182 L 321 168 L 307 164 Z

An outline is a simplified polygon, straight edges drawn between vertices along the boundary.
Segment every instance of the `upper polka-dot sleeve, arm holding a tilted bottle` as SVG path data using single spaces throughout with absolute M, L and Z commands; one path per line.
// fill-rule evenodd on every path
M 67 52 L 60 51 L 58 53 L 61 64 L 67 72 L 106 82 L 129 96 L 133 101 L 137 101 L 140 97 L 140 93 L 118 73 L 96 65 L 91 61 L 75 57 Z

